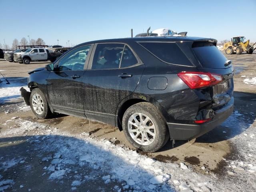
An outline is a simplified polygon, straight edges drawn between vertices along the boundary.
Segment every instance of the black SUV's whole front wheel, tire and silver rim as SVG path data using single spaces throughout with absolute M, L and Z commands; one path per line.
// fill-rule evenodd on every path
M 34 88 L 30 94 L 30 108 L 39 119 L 46 119 L 52 112 L 49 108 L 48 102 L 44 93 L 39 88 Z

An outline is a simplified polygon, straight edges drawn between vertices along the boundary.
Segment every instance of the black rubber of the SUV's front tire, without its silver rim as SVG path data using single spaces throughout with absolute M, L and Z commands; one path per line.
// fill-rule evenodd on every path
M 44 112 L 40 115 L 35 112 L 35 110 L 33 108 L 33 105 L 32 105 L 32 97 L 33 97 L 34 94 L 39 94 L 40 97 L 42 98 L 43 102 L 44 102 Z M 31 91 L 29 100 L 30 100 L 30 108 L 32 109 L 33 113 L 37 116 L 37 118 L 45 119 L 49 116 L 50 109 L 49 109 L 49 106 L 48 106 L 48 102 L 47 102 L 43 92 L 39 88 L 34 88 Z

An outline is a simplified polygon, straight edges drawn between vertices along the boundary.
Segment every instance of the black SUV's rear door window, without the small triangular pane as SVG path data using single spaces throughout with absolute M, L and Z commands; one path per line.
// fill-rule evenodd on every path
M 124 44 L 98 44 L 92 61 L 92 69 L 119 68 Z

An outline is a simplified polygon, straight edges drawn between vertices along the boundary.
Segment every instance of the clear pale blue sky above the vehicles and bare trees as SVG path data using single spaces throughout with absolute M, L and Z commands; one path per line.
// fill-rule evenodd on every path
M 158 28 L 188 36 L 256 41 L 256 0 L 0 0 L 0 43 L 42 38 L 71 44 L 130 37 Z

